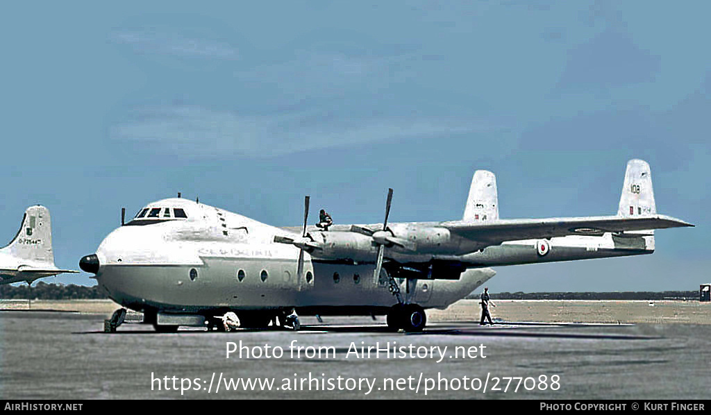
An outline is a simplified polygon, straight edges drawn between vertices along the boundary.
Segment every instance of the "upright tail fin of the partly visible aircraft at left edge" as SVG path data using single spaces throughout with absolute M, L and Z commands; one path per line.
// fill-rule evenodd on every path
M 43 262 L 54 266 L 49 210 L 40 205 L 27 208 L 17 235 L 1 250 L 16 258 L 30 259 L 34 262 Z

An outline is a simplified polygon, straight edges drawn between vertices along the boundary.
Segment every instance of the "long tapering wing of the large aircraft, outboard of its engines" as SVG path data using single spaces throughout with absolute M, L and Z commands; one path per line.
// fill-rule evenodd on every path
M 567 235 L 602 235 L 604 232 L 624 233 L 694 226 L 666 215 L 637 217 L 555 217 L 548 219 L 510 219 L 496 222 L 442 222 L 449 232 L 488 245 L 521 239 L 565 237 Z

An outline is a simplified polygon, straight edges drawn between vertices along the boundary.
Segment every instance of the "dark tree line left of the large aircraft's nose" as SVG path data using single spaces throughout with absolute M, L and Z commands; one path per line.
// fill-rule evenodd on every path
M 108 298 L 99 286 L 78 286 L 75 284 L 47 284 L 40 281 L 35 286 L 2 285 L 0 299 L 4 300 L 94 300 Z

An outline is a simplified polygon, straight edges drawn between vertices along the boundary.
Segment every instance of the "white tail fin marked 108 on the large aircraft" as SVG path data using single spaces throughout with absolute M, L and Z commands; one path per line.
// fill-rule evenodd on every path
M 652 173 L 643 160 L 630 160 L 622 185 L 618 216 L 635 217 L 654 215 L 657 212 L 652 190 Z

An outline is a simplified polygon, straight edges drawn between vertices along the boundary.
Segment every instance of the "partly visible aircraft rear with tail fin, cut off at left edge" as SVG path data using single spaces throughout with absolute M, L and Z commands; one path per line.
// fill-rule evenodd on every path
M 65 272 L 79 271 L 58 269 L 54 264 L 49 210 L 40 205 L 30 206 L 17 235 L 0 249 L 0 284 L 32 284 L 36 279 Z

